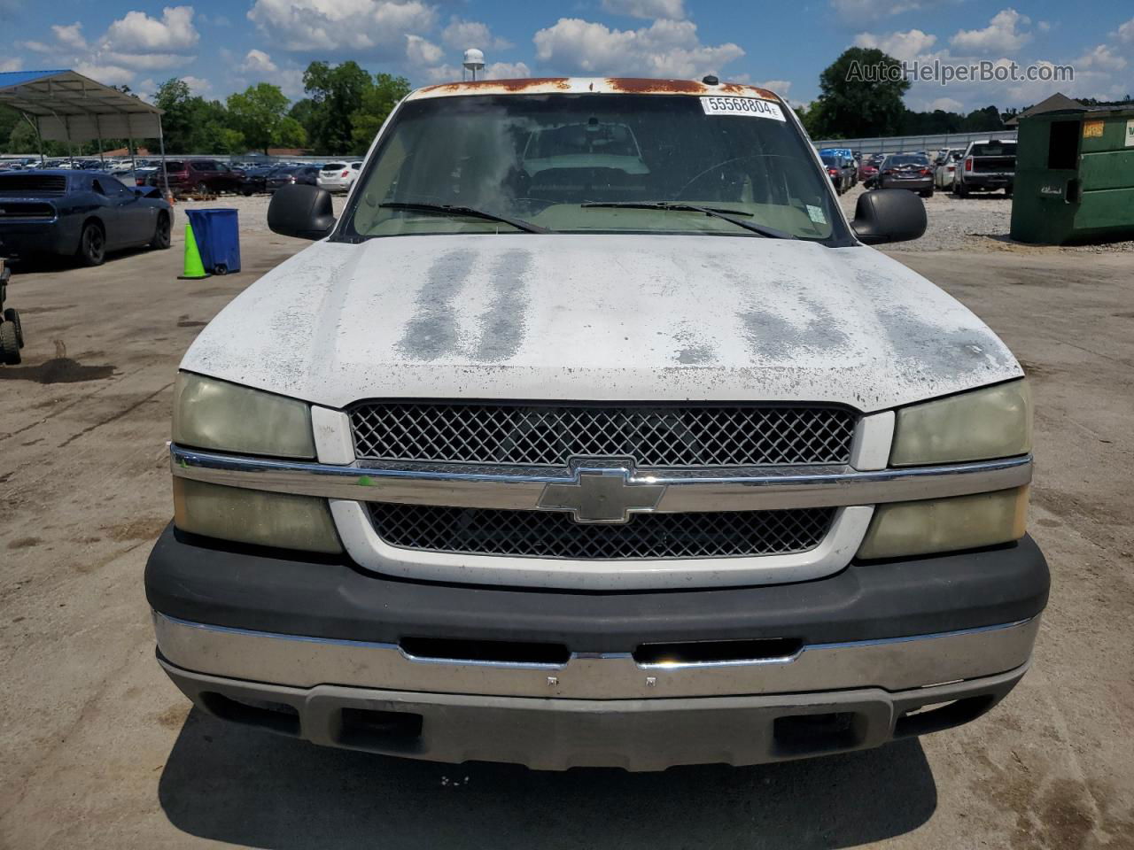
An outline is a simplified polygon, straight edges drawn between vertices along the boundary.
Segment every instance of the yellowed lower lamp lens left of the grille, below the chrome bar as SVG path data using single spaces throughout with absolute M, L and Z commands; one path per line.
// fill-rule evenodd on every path
M 257 546 L 342 551 L 325 499 L 174 478 L 174 525 Z

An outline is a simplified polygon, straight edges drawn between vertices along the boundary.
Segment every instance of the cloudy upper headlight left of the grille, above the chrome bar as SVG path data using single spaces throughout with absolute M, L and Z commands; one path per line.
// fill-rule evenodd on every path
M 174 384 L 174 442 L 240 454 L 315 457 L 311 408 L 303 401 L 187 372 L 179 372 Z

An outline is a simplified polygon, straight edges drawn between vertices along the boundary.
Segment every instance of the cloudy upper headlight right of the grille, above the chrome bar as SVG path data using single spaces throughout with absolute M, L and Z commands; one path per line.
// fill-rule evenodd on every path
M 973 390 L 898 410 L 890 466 L 962 464 L 1032 450 L 1027 381 Z

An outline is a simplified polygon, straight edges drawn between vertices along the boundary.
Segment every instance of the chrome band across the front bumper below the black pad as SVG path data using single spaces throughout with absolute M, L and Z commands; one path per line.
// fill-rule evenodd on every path
M 815 644 L 782 658 L 638 664 L 628 653 L 567 663 L 417 658 L 396 644 L 276 635 L 154 612 L 161 654 L 197 673 L 290 687 L 341 685 L 488 696 L 629 699 L 929 687 L 1026 663 L 1040 618 L 963 631 Z

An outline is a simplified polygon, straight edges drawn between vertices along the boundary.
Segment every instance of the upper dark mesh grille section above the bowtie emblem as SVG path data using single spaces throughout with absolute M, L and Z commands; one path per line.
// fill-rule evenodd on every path
M 350 410 L 363 460 L 643 467 L 846 464 L 855 417 L 833 407 L 539 406 L 364 402 Z

